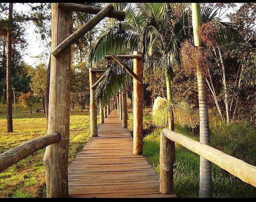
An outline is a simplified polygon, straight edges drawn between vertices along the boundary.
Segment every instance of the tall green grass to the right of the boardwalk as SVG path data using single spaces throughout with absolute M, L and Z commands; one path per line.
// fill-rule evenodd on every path
M 143 115 L 143 155 L 159 175 L 160 132 L 152 126 L 151 109 Z M 132 110 L 129 110 L 128 128 L 132 131 Z M 175 124 L 179 132 L 199 141 L 188 127 Z M 210 119 L 211 146 L 249 164 L 256 165 L 256 127 L 241 122 L 230 126 Z M 181 198 L 199 197 L 199 155 L 175 143 L 174 193 Z M 212 163 L 212 193 L 214 198 L 255 198 L 256 188 L 234 177 Z

